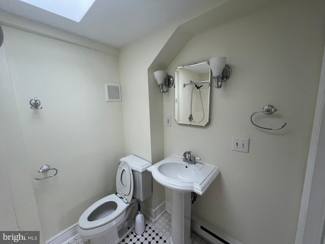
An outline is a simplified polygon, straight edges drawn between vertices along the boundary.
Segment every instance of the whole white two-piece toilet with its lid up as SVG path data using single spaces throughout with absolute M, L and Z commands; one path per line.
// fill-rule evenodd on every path
M 116 193 L 88 207 L 79 218 L 78 233 L 91 244 L 119 243 L 135 225 L 138 200 L 151 195 L 151 164 L 135 155 L 120 159 L 116 173 Z M 138 199 L 138 200 L 137 200 Z

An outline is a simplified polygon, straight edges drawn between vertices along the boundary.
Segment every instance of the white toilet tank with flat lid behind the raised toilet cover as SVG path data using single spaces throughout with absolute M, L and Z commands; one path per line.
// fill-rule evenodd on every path
M 140 201 L 145 200 L 152 193 L 152 175 L 147 171 L 151 164 L 135 155 L 129 155 L 120 159 L 127 162 L 133 174 L 133 197 Z

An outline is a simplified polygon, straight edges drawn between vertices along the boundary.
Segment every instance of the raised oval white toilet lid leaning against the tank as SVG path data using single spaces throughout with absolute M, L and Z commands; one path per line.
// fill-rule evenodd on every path
M 116 173 L 116 192 L 126 203 L 130 203 L 133 196 L 133 174 L 126 162 L 121 162 Z

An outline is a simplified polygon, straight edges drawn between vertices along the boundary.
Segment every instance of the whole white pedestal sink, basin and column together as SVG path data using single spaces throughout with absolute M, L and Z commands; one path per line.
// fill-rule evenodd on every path
M 171 155 L 147 170 L 159 184 L 173 190 L 171 244 L 191 243 L 191 192 L 203 195 L 220 170 L 201 161 L 185 163 L 183 157 L 177 155 Z

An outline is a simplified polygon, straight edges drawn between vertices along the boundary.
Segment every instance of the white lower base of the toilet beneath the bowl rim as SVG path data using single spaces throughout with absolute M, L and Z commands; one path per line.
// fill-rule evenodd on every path
M 117 244 L 121 242 L 131 231 L 134 230 L 135 218 L 138 213 L 137 199 L 132 199 L 126 209 L 125 219 L 116 227 L 111 228 L 105 234 L 90 238 L 90 244 Z

